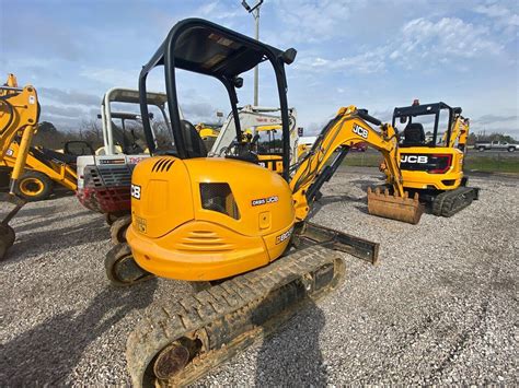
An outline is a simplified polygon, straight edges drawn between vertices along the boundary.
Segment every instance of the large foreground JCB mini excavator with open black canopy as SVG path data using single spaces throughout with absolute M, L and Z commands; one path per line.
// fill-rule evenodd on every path
M 108 252 L 108 277 L 119 284 L 155 274 L 210 285 L 180 301 L 159 301 L 146 311 L 127 341 L 127 365 L 136 387 L 189 384 L 257 336 L 272 332 L 307 301 L 339 284 L 345 269 L 337 251 L 373 263 L 378 258 L 378 244 L 311 224 L 307 216 L 350 143 L 368 139 L 395 155 L 392 127 L 380 126 L 379 132 L 368 121 L 380 121 L 366 110 L 342 108 L 290 174 L 285 64 L 295 57 L 295 49 L 279 50 L 188 19 L 171 30 L 141 70 L 141 116 L 151 134 L 147 77 L 153 68 L 164 68 L 174 146 L 150 150 L 154 156 L 136 166 L 128 244 Z M 277 81 L 282 174 L 258 166 L 257 157 L 243 150 L 206 157 L 197 131 L 181 120 L 177 109 L 176 69 L 214 77 L 229 93 L 240 139 L 239 75 L 264 61 Z M 336 148 L 341 152 L 327 165 Z M 388 169 L 397 174 L 395 161 L 388 158 Z M 393 181 L 394 189 L 402 190 L 401 178 Z M 417 201 L 401 199 L 417 209 Z

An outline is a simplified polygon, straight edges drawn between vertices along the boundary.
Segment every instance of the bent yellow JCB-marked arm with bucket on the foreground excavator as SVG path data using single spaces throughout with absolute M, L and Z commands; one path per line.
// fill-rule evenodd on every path
M 379 130 L 373 129 L 368 122 L 378 126 Z M 370 213 L 404 222 L 418 222 L 422 215 L 418 199 L 408 199 L 402 184 L 395 129 L 355 106 L 342 107 L 318 137 L 311 151 L 297 164 L 290 181 L 297 221 L 307 217 L 312 202 L 320 197 L 322 185 L 330 180 L 351 145 L 360 142 L 368 143 L 383 155 L 384 173 L 394 192 L 394 196 L 389 196 L 388 192 L 383 195 L 369 192 Z M 328 163 L 336 150 L 339 150 L 338 154 L 332 163 Z

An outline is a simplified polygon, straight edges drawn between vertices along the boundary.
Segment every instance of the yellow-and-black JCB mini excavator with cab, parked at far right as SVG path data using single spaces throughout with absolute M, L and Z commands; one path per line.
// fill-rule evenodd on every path
M 411 195 L 419 195 L 420 202 L 428 204 L 435 215 L 451 216 L 478 198 L 480 189 L 468 187 L 468 177 L 463 175 L 470 121 L 461 113 L 460 107 L 452 108 L 445 103 L 419 104 L 418 101 L 412 106 L 394 108 L 393 127 L 396 120 L 406 124 L 399 146 L 403 186 Z M 432 133 L 430 139 L 426 139 L 420 121 L 430 122 L 431 118 Z M 438 141 L 440 121 L 446 128 Z M 384 165 L 385 161 L 382 169 Z M 389 180 L 392 179 L 391 174 L 387 176 Z M 388 183 L 391 186 L 391 181 Z M 373 197 L 376 193 L 368 196 Z M 388 205 L 387 213 L 390 216 L 393 197 L 379 195 L 377 198 L 378 201 L 369 203 L 376 203 L 379 209 Z

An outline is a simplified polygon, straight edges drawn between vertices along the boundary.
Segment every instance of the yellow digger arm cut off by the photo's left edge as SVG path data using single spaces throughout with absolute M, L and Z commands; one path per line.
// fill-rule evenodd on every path
M 22 177 L 31 140 L 37 129 L 39 104 L 36 90 L 28 85 L 18 87 L 16 78 L 9 74 L 8 82 L 0 86 L 0 160 L 5 156 L 16 136 L 21 136 L 19 156 L 11 174 L 9 193 L 0 193 L 0 201 L 13 204 L 13 209 L 0 222 L 0 260 L 14 244 L 14 230 L 9 226 L 11 219 L 25 204 L 16 196 L 19 179 Z

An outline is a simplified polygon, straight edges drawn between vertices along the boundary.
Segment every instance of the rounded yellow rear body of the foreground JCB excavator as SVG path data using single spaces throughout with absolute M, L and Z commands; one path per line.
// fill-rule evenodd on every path
M 231 195 L 221 210 L 234 212 L 203 203 L 204 184 L 228 184 Z M 126 237 L 137 263 L 187 281 L 224 279 L 267 264 L 287 248 L 295 222 L 290 188 L 278 174 L 217 157 L 140 162 L 132 175 L 131 213 Z

